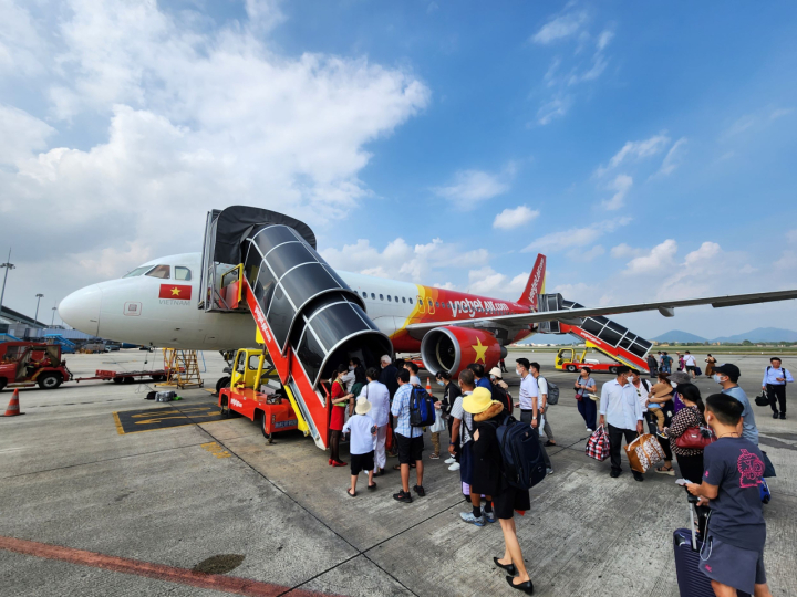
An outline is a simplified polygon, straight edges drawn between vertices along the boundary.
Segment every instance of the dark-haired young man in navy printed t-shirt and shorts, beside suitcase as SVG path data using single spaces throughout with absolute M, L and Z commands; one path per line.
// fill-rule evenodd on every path
M 742 402 L 726 394 L 706 399 L 705 420 L 717 441 L 703 452 L 703 483 L 689 483 L 686 489 L 712 511 L 700 569 L 711 578 L 714 594 L 731 597 L 743 590 L 772 597 L 764 570 L 766 523 L 758 493 L 764 457 L 738 432 L 743 410 Z

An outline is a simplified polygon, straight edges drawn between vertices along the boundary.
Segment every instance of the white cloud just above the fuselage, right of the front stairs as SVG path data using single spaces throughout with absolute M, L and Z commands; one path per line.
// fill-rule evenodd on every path
M 486 265 L 486 249 L 465 250 L 456 243 L 434 239 L 427 244 L 411 247 L 398 238 L 380 251 L 370 241 L 360 239 L 341 249 L 327 248 L 321 255 L 335 269 L 428 284 L 435 276 L 452 268 L 468 269 Z

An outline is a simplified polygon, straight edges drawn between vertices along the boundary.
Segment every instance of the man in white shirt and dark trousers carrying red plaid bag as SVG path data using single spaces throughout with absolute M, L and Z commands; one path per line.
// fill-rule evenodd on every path
M 636 390 L 628 381 L 631 369 L 625 365 L 621 365 L 617 368 L 617 379 L 607 381 L 601 388 L 599 410 L 599 425 L 608 423 L 612 479 L 617 479 L 622 473 L 620 448 L 623 437 L 627 444 L 631 443 L 639 433 L 642 433 L 642 420 L 644 418 Z M 634 480 L 644 481 L 642 473 L 632 472 Z

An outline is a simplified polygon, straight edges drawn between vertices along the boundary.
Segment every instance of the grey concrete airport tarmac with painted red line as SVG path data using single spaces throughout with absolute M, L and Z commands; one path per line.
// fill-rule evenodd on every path
M 138 350 L 65 358 L 76 376 L 161 364 L 159 354 Z M 216 354 L 205 359 L 213 387 L 225 365 Z M 587 458 L 570 391 L 575 376 L 552 373 L 550 353 L 539 360 L 561 398 L 550 409 L 555 473 L 531 490 L 531 510 L 517 519 L 535 594 L 677 596 L 672 532 L 686 525 L 684 491 L 655 472 L 643 483 L 628 469 L 611 479 L 609 461 Z M 752 399 L 768 359 L 733 362 Z M 510 369 L 513 363 L 510 354 Z M 514 370 L 507 380 L 517 386 Z M 704 396 L 718 389 L 706 378 L 697 386 Z M 205 389 L 180 390 L 184 399 L 166 405 L 145 400 L 149 389 L 106 383 L 23 389 L 25 415 L 0 419 L 2 595 L 515 594 L 493 565 L 504 551 L 499 525 L 460 521 L 468 504 L 458 473 L 428 460 L 428 434 L 426 498 L 396 503 L 398 473 L 390 470 L 375 492 L 364 491 L 362 476 L 351 499 L 349 469 L 330 468 L 301 434 L 267 444 L 246 419 L 217 420 Z M 797 596 L 796 392 L 789 387 L 787 420 L 754 407 L 760 448 L 778 474 L 764 506 L 776 596 Z M 1 392 L 0 408 L 10 398 Z M 349 460 L 348 448 L 342 457 Z M 395 462 L 389 459 L 389 469 Z

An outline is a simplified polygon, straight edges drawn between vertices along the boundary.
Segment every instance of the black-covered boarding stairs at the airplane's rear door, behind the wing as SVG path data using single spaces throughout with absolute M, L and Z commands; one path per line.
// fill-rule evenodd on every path
M 537 304 L 540 312 L 584 308 L 579 303 L 566 301 L 561 294 L 540 294 Z M 653 345 L 608 317 L 579 317 L 563 322 L 542 322 L 539 324 L 538 332 L 540 334 L 570 334 L 583 341 L 588 348 L 596 348 L 618 363 L 648 371 L 648 353 Z

